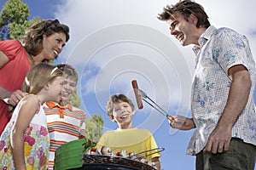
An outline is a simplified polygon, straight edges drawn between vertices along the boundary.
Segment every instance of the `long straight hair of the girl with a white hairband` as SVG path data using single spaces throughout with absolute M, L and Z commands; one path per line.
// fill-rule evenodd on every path
M 26 74 L 22 90 L 28 94 L 38 94 L 48 82 L 53 82 L 56 77 L 62 77 L 60 69 L 53 65 L 39 63 Z

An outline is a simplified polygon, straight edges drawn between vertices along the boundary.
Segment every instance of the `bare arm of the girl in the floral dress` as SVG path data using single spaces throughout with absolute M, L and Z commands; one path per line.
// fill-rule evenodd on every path
M 15 161 L 15 169 L 26 170 L 24 158 L 24 132 L 38 110 L 38 99 L 34 95 L 29 95 L 20 102 L 20 107 L 18 108 L 20 111 L 11 133 L 11 147 Z

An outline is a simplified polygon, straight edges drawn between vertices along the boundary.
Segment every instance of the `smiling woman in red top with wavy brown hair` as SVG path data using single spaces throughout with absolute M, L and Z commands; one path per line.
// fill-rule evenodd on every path
M 43 20 L 28 28 L 21 42 L 0 42 L 0 134 L 9 122 L 8 104 L 15 106 L 26 95 L 20 90 L 26 73 L 33 65 L 55 59 L 68 39 L 68 26 Z

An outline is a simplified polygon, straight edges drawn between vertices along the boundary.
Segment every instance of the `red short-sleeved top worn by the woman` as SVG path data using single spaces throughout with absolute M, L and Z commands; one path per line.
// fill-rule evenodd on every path
M 32 65 L 27 58 L 26 49 L 16 40 L 0 42 L 0 51 L 7 55 L 9 62 L 0 69 L 0 86 L 13 92 L 22 88 L 26 73 Z M 9 122 L 7 105 L 0 100 L 0 134 Z

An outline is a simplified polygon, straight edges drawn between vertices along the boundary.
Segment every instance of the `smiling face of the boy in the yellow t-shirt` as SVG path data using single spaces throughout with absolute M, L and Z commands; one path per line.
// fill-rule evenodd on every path
M 127 127 L 131 125 L 131 118 L 134 112 L 131 105 L 126 102 L 118 102 L 113 104 L 113 120 L 119 124 L 119 127 Z

